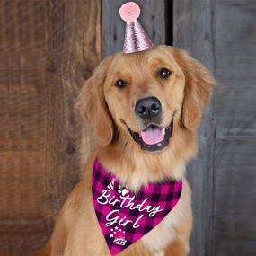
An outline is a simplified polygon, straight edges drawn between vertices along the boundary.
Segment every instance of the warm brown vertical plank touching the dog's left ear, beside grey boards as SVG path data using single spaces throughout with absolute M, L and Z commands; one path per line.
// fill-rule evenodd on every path
M 46 65 L 49 114 L 45 146 L 49 201 L 45 204 L 45 216 L 51 224 L 79 177 L 81 137 L 74 103 L 85 79 L 92 75 L 100 60 L 100 12 L 100 0 L 56 0 L 49 5 Z

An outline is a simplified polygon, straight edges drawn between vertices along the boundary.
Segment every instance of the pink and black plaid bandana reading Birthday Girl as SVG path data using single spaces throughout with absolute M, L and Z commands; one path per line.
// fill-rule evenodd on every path
M 111 255 L 137 242 L 171 212 L 182 181 L 149 183 L 137 193 L 122 187 L 98 159 L 93 163 L 93 205 Z

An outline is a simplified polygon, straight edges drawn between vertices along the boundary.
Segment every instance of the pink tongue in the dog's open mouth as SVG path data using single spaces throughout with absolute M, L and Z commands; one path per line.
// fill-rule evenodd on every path
M 154 145 L 164 139 L 164 128 L 149 127 L 139 133 L 147 145 Z

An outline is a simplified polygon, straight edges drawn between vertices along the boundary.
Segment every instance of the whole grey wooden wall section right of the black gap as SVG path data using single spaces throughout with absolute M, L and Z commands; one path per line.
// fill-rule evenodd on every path
M 217 86 L 190 163 L 191 256 L 256 253 L 256 3 L 174 0 L 173 43 L 210 68 Z

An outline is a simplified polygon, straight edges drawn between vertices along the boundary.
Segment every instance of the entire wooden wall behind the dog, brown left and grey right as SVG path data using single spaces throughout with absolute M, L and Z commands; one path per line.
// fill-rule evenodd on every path
M 39 250 L 79 178 L 75 97 L 100 59 L 122 49 L 125 2 L 0 0 L 0 255 Z M 190 256 L 254 256 L 256 3 L 137 3 L 155 44 L 188 50 L 217 80 L 188 166 Z M 88 154 L 86 131 L 82 146 Z

